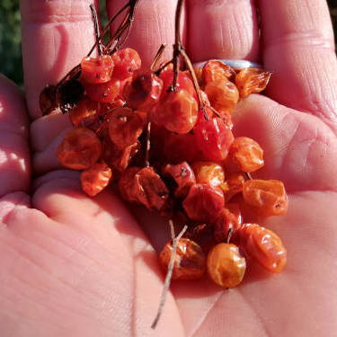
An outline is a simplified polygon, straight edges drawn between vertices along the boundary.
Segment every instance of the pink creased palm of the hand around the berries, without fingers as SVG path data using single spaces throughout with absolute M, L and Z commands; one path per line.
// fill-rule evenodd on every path
M 6 82 L 1 85 L 9 88 L 4 116 L 13 122 L 9 111 L 17 93 Z M 282 97 L 278 85 L 276 78 L 270 96 L 279 102 L 290 97 L 288 106 L 305 110 L 310 98 Z M 330 111 L 321 112 L 327 116 Z M 288 188 L 288 215 L 263 224 L 288 247 L 288 266 L 270 278 L 252 265 L 244 284 L 229 291 L 208 280 L 173 284 L 154 335 L 333 335 L 337 140 L 333 119 L 322 120 L 258 95 L 240 104 L 235 135 L 262 144 L 267 164 L 261 175 L 282 180 Z M 67 117 L 59 115 L 32 124 L 36 172 L 58 167 L 53 157 L 65 127 Z M 17 153 L 19 146 L 4 148 Z M 24 151 L 20 156 L 27 161 Z M 22 186 L 4 184 L 3 194 L 25 188 L 27 172 L 18 168 L 15 174 L 21 174 Z M 163 286 L 153 247 L 164 243 L 165 226 L 149 215 L 142 215 L 139 226 L 111 191 L 84 197 L 77 173 L 51 171 L 33 186 L 31 200 L 16 192 L 0 201 L 7 225 L 0 227 L 4 335 L 151 334 Z

